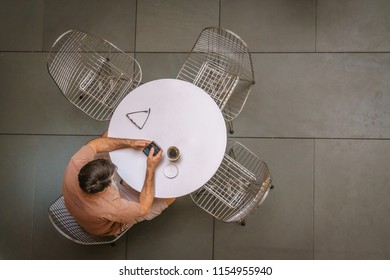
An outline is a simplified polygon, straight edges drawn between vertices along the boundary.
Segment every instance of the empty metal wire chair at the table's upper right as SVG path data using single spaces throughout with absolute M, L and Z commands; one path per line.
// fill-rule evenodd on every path
M 255 83 L 252 57 L 239 36 L 229 30 L 207 27 L 200 33 L 177 79 L 206 91 L 231 125 Z

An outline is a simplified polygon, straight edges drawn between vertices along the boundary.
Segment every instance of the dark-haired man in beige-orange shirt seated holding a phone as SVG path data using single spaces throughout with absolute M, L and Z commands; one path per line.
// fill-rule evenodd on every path
M 105 134 L 88 142 L 72 157 L 65 171 L 62 191 L 66 208 L 86 231 L 97 236 L 118 235 L 137 222 L 158 216 L 174 201 L 154 198 L 154 176 L 162 150 L 156 156 L 151 150 L 146 158 L 145 181 L 140 193 L 123 183 L 116 166 L 108 159 L 107 152 L 143 149 L 149 143 Z M 121 191 L 123 188 L 128 188 L 126 197 Z

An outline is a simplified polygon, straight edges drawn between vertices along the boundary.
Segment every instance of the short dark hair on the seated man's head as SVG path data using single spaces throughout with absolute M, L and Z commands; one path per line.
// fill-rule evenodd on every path
M 115 164 L 106 159 L 95 159 L 80 169 L 80 188 L 89 194 L 103 191 L 111 183 L 116 170 Z

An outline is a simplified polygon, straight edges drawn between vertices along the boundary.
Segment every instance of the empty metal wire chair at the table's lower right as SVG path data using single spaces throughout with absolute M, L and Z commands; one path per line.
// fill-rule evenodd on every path
M 273 188 L 265 162 L 241 143 L 228 144 L 220 167 L 200 189 L 191 193 L 192 200 L 203 210 L 223 222 L 239 222 L 252 214 Z

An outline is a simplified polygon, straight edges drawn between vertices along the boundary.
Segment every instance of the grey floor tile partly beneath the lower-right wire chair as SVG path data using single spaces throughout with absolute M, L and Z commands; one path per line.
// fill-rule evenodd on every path
M 275 188 L 246 225 L 215 224 L 215 259 L 313 258 L 313 140 L 235 139 L 265 161 Z

